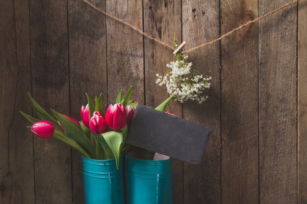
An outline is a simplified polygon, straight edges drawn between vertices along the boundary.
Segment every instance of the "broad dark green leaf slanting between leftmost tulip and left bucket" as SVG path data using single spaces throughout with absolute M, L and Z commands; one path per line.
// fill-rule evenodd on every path
M 95 157 L 96 155 L 95 149 L 89 138 L 83 132 L 82 128 L 78 126 L 74 121 L 65 117 L 61 113 L 57 113 L 54 110 L 51 111 L 56 117 L 56 119 L 60 122 L 62 128 L 65 131 L 65 135 L 75 140 L 79 145 L 84 147 L 87 150 L 87 152 L 90 153 L 91 156 Z

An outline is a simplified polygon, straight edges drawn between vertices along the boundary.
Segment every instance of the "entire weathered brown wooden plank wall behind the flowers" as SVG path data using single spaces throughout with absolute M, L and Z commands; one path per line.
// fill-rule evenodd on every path
M 154 38 L 215 39 L 289 0 L 91 0 Z M 201 165 L 174 161 L 174 204 L 307 204 L 307 1 L 188 53 L 212 76 L 202 105 L 169 111 L 212 128 Z M 26 91 L 79 118 L 84 93 L 120 88 L 148 106 L 167 97 L 155 74 L 172 59 L 82 0 L 0 1 L 0 204 L 83 204 L 80 155 L 33 137 Z

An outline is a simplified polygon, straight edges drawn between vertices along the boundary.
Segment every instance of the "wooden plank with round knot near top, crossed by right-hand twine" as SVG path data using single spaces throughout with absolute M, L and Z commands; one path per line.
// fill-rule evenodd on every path
M 221 33 L 257 18 L 257 0 L 221 0 Z M 222 204 L 258 204 L 258 28 L 221 42 Z

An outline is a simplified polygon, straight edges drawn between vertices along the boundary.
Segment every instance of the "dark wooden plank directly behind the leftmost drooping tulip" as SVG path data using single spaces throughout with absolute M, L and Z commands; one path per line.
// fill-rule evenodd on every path
M 66 0 L 30 0 L 32 95 L 46 110 L 69 114 Z M 52 138 L 34 138 L 36 204 L 69 204 L 71 150 Z

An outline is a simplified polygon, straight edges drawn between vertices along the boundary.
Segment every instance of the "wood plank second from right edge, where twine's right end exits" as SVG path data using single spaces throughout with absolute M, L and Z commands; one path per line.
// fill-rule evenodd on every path
M 287 0 L 259 0 L 263 15 Z M 297 203 L 297 6 L 259 22 L 260 203 Z

